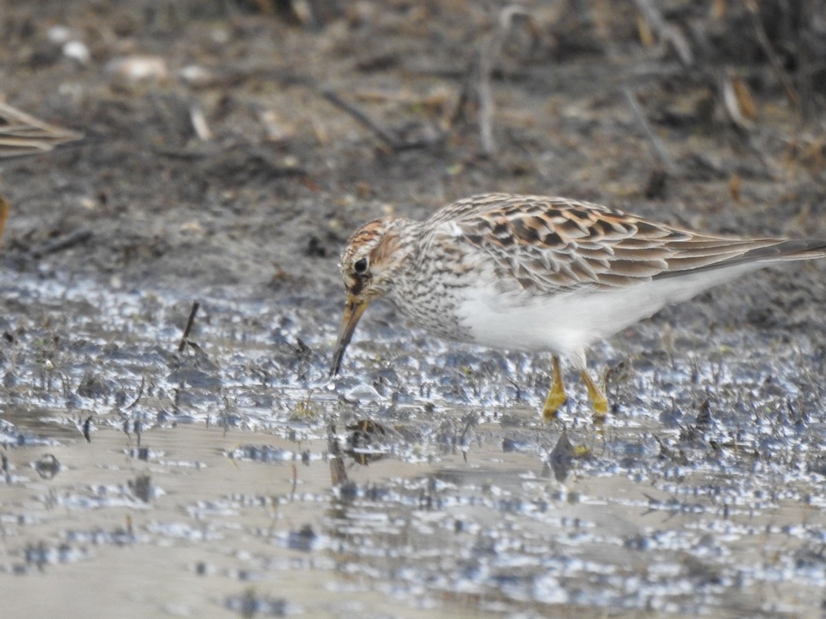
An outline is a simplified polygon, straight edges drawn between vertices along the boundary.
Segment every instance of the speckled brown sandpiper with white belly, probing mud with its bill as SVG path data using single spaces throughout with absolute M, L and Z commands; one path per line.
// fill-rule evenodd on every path
M 608 402 L 586 370 L 591 343 L 743 273 L 823 256 L 824 239 L 699 234 L 565 198 L 472 196 L 422 222 L 372 221 L 349 239 L 331 374 L 364 309 L 387 296 L 439 337 L 550 352 L 546 419 L 566 400 L 565 357 L 580 371 L 599 418 Z

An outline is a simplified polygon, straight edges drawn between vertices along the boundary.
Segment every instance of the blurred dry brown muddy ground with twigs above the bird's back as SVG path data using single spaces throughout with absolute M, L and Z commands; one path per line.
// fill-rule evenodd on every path
M 822 7 L 750 6 L 9 2 L 2 96 L 86 139 L 4 165 L 6 259 L 88 228 L 54 260 L 317 293 L 363 220 L 494 190 L 823 235 Z

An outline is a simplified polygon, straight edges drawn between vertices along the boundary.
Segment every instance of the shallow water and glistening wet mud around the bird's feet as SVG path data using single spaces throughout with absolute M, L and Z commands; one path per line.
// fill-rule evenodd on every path
M 592 355 L 619 405 L 600 429 L 574 383 L 540 422 L 546 361 L 403 343 L 387 309 L 334 384 L 323 300 L 202 299 L 178 353 L 190 302 L 7 281 L 10 617 L 819 612 L 826 361 L 803 335 L 665 352 L 632 329 Z

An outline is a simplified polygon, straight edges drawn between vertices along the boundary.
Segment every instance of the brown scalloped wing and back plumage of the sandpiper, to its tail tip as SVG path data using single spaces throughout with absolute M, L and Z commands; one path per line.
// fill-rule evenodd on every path
M 695 234 L 604 206 L 542 196 L 486 194 L 458 201 L 426 222 L 492 260 L 504 281 L 547 294 L 634 286 L 742 262 L 814 258 L 824 241 Z

